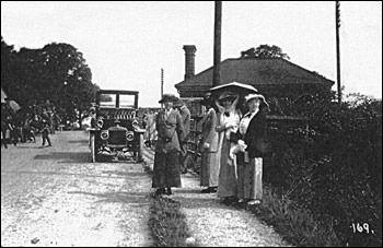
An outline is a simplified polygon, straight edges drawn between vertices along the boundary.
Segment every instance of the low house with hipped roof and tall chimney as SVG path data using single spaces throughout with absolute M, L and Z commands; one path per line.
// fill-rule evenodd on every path
M 194 45 L 184 46 L 185 79 L 175 84 L 181 98 L 189 102 L 192 113 L 199 114 L 197 99 L 212 87 L 213 67 L 195 74 Z M 240 82 L 253 85 L 272 104 L 294 101 L 320 91 L 330 91 L 334 81 L 286 59 L 236 58 L 220 63 L 221 84 Z M 272 106 L 271 106 L 272 107 Z

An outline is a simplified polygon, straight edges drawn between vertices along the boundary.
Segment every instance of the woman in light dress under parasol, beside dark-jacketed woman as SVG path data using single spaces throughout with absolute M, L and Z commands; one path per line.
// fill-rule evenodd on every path
M 218 156 L 221 157 L 217 197 L 224 198 L 225 204 L 236 202 L 237 194 L 236 161 L 235 156 L 230 156 L 230 150 L 235 145 L 230 137 L 237 131 L 241 119 L 237 102 L 239 95 L 230 92 L 222 93 L 216 101 L 219 109 L 216 128 L 219 132 Z

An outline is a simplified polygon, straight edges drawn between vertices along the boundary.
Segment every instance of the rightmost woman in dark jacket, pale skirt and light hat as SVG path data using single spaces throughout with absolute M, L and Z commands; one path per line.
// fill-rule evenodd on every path
M 266 115 L 268 104 L 262 94 L 245 96 L 248 111 L 242 117 L 239 130 L 232 137 L 237 142 L 236 154 L 240 203 L 259 204 L 263 198 L 263 156 L 267 150 Z

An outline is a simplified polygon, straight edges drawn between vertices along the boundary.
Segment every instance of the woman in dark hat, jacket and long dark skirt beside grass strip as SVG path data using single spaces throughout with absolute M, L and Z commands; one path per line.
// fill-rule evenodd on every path
M 179 140 L 185 138 L 182 118 L 173 108 L 173 103 L 178 97 L 172 94 L 164 94 L 159 102 L 164 104 L 155 117 L 158 142 L 154 154 L 154 168 L 152 188 L 156 188 L 156 194 L 172 194 L 172 187 L 181 187 L 179 176 Z

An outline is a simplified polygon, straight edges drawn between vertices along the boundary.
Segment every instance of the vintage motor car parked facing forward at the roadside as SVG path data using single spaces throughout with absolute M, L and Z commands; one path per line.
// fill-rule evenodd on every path
M 139 127 L 138 92 L 98 90 L 96 113 L 90 131 L 91 161 L 101 154 L 130 156 L 141 162 L 142 134 Z

